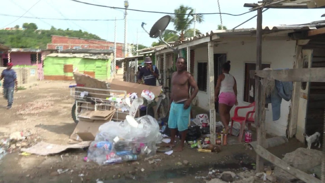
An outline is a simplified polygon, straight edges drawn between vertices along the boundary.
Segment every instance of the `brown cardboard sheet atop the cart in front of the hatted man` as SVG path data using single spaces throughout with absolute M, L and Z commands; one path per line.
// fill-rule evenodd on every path
M 141 97 L 141 93 L 143 90 L 149 90 L 153 94 L 155 94 L 155 96 L 159 96 L 162 86 L 141 85 L 137 83 L 130 83 L 125 81 L 120 81 L 118 79 L 113 79 L 110 84 L 110 89 L 123 90 L 126 91 L 126 93 L 136 93 L 138 97 Z

